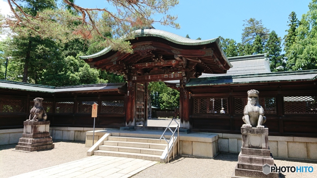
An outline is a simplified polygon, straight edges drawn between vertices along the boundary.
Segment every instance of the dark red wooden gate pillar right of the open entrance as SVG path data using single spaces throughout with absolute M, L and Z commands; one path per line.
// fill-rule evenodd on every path
M 179 116 L 180 116 L 180 127 L 183 129 L 191 129 L 192 123 L 189 119 L 189 93 L 185 88 L 185 84 L 187 82 L 187 77 L 183 77 L 182 80 L 180 80 L 179 85 Z

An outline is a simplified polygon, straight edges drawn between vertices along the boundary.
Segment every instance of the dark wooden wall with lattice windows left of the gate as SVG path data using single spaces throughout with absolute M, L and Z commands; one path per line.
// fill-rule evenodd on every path
M 0 93 L 0 129 L 23 128 L 37 97 L 44 99 L 43 107 L 53 127 L 93 127 L 93 102 L 99 105 L 95 127 L 119 128 L 126 122 L 126 96 L 118 92 L 53 94 L 1 89 Z

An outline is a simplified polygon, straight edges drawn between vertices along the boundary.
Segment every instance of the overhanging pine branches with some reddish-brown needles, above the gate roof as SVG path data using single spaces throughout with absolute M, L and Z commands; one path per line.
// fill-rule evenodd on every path
M 177 16 L 169 12 L 178 0 L 109 0 L 106 3 L 111 8 L 81 7 L 73 0 L 62 2 L 56 8 L 55 0 L 10 0 L 8 3 L 13 15 L 1 16 L 0 25 L 2 28 L 10 27 L 14 33 L 24 37 L 40 36 L 63 42 L 99 35 L 107 42 L 106 46 L 122 52 L 132 52 L 126 40 L 133 38 L 131 32 L 135 28 L 149 27 L 154 22 L 180 28 Z M 100 21 L 100 16 L 104 20 Z M 104 36 L 105 31 L 111 32 L 113 38 Z

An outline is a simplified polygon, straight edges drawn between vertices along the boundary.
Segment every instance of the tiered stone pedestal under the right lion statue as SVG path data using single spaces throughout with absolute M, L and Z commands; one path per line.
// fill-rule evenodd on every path
M 268 128 L 245 128 L 241 127 L 242 148 L 238 157 L 238 163 L 231 178 L 254 177 L 254 178 L 278 178 L 277 172 L 263 173 L 263 166 L 274 165 L 274 159 L 268 148 Z

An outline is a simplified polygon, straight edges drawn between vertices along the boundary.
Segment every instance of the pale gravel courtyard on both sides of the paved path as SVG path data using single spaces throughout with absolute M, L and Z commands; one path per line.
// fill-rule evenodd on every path
M 0 146 L 0 177 L 6 178 L 86 158 L 89 148 L 83 142 L 54 140 L 55 149 L 39 152 L 14 151 L 16 144 Z M 230 177 L 238 161 L 237 154 L 219 154 L 215 159 L 178 157 L 167 164 L 155 164 L 133 178 L 157 177 Z M 317 162 L 275 160 L 277 166 L 313 166 L 313 173 L 284 173 L 286 178 L 317 177 Z

